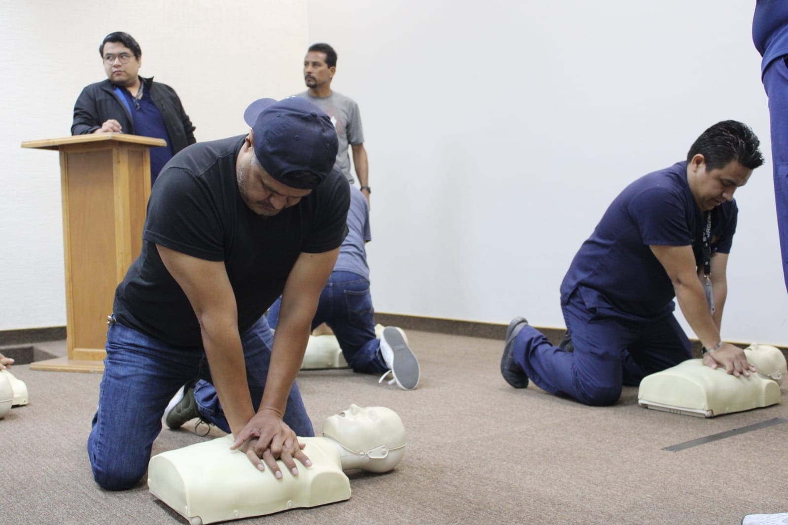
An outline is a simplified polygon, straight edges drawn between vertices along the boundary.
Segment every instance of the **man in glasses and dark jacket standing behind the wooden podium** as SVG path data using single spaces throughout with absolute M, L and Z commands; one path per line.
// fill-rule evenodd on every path
M 195 127 L 172 87 L 137 74 L 142 50 L 128 33 L 106 35 L 99 54 L 107 79 L 82 90 L 74 105 L 72 135 L 131 133 L 164 139 L 151 148 L 151 183 L 175 153 L 194 144 Z

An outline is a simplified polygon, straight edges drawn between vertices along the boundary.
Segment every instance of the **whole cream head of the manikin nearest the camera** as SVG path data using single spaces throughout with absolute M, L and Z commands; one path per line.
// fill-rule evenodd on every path
M 400 463 L 407 445 L 400 416 L 382 406 L 350 405 L 325 419 L 323 435 L 364 458 L 363 469 L 372 472 L 392 470 Z

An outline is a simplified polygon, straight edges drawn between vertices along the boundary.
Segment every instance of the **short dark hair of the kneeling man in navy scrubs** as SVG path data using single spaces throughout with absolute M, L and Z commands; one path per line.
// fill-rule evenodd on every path
M 760 140 L 747 124 L 736 120 L 723 120 L 708 128 L 697 138 L 687 153 L 687 163 L 701 153 L 706 169 L 723 168 L 730 161 L 738 161 L 745 168 L 755 169 L 764 164 L 758 150 Z

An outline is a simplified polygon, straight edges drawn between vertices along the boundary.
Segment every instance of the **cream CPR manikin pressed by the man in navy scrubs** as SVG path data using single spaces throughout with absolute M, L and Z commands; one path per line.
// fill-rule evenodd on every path
M 746 377 L 727 374 L 725 367 L 705 366 L 701 359 L 646 376 L 637 402 L 649 409 L 712 417 L 758 409 L 780 402 L 780 383 L 786 375 L 786 358 L 779 349 L 751 345 L 744 350 L 757 372 Z

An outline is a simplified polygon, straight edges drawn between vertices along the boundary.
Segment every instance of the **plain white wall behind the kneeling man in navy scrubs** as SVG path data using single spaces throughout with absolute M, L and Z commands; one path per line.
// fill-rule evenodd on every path
M 308 0 L 362 111 L 376 309 L 563 327 L 559 283 L 612 198 L 731 118 L 767 164 L 737 194 L 723 335 L 788 343 L 753 7 Z

